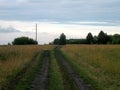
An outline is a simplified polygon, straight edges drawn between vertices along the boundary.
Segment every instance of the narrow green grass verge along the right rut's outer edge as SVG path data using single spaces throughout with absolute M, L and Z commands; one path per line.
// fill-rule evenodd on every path
M 71 60 L 62 50 L 58 50 L 58 52 L 65 58 L 73 70 L 76 71 L 76 73 L 80 76 L 81 79 L 83 79 L 84 83 L 87 84 L 91 90 L 102 90 L 98 82 L 89 77 L 85 71 L 81 70 L 78 65 L 73 60 Z

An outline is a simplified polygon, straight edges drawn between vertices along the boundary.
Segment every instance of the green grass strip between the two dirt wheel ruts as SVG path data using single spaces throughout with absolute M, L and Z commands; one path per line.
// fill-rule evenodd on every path
M 63 79 L 60 67 L 54 57 L 54 52 L 50 52 L 50 70 L 49 70 L 49 90 L 64 90 Z

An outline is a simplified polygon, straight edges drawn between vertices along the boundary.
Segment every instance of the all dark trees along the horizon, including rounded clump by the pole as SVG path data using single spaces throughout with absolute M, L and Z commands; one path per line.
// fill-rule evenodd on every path
M 13 45 L 28 45 L 38 44 L 37 41 L 28 37 L 18 37 L 12 42 Z M 66 35 L 62 33 L 59 38 L 54 39 L 50 44 L 65 45 L 65 44 L 120 44 L 120 34 L 107 35 L 100 31 L 98 36 L 93 36 L 89 32 L 85 39 L 66 39 Z

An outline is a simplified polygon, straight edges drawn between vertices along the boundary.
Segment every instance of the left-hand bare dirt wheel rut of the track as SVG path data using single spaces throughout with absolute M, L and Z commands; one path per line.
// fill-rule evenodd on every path
M 49 51 L 44 51 L 44 57 L 41 62 L 41 69 L 32 83 L 30 90 L 47 90 L 49 68 Z

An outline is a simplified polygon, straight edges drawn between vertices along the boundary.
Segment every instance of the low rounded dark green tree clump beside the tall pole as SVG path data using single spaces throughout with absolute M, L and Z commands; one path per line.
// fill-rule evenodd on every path
M 14 39 L 12 44 L 13 45 L 29 45 L 29 44 L 38 44 L 38 42 L 28 37 L 18 37 Z

